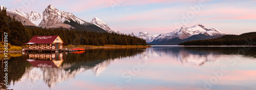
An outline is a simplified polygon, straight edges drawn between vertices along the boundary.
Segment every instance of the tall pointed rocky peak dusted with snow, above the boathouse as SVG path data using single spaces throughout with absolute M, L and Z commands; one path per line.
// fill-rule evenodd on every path
M 68 13 L 65 11 L 61 11 L 53 7 L 52 5 L 49 5 L 45 11 L 42 13 L 43 18 L 42 21 L 38 26 L 41 27 L 71 27 L 68 24 L 65 24 L 65 21 L 73 20 L 79 24 L 87 25 L 89 22 L 86 22 L 80 18 L 77 18 L 72 13 Z

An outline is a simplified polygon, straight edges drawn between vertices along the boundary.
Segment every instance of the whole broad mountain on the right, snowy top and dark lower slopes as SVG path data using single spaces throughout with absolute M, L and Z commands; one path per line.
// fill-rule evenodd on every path
M 217 28 L 205 28 L 202 24 L 197 23 L 194 26 L 185 26 L 176 29 L 174 32 L 167 34 L 160 34 L 157 36 L 152 44 L 159 45 L 178 45 L 179 43 L 191 40 L 207 39 L 217 36 L 223 36 L 221 31 Z

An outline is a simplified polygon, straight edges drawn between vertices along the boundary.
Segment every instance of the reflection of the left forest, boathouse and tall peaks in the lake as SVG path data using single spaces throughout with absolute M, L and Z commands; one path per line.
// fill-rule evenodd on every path
M 143 51 L 145 48 L 89 49 L 82 53 L 26 53 L 10 58 L 8 82 L 14 84 L 26 79 L 44 80 L 49 87 L 53 87 L 87 70 L 99 76 L 114 59 L 132 57 Z M 3 74 L 0 76 L 4 77 Z

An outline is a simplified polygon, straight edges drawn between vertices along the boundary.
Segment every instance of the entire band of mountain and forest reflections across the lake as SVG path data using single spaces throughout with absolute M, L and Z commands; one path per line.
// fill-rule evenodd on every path
M 156 46 L 151 48 L 88 49 L 79 53 L 10 53 L 8 82 L 11 87 L 15 87 L 18 82 L 22 81 L 42 81 L 48 87 L 53 88 L 58 83 L 70 82 L 79 74 L 87 71 L 94 76 L 101 76 L 111 64 L 117 66 L 121 62 L 126 62 L 121 63 L 119 65 L 120 68 L 125 68 L 125 65 L 136 65 L 137 57 L 139 59 L 155 61 L 155 63 L 163 66 L 166 66 L 166 61 L 175 61 L 179 67 L 187 65 L 202 67 L 206 63 L 214 66 L 212 62 L 221 61 L 221 59 L 227 56 L 239 56 L 255 60 L 255 47 L 251 47 L 250 50 L 244 53 L 239 52 L 241 48 L 243 47 Z M 127 63 L 129 61 L 125 61 L 126 59 L 135 63 Z M 136 61 L 133 61 L 133 59 Z M 163 61 L 165 62 L 163 63 Z M 4 77 L 3 63 L 1 66 L 3 74 L 1 73 L 0 77 Z M 129 68 L 127 67 L 127 69 Z M 113 67 L 109 69 L 113 70 Z M 110 70 L 107 71 L 110 72 Z M 114 72 L 112 74 L 115 76 L 115 71 L 111 72 Z M 3 78 L 0 78 L 0 81 L 3 81 Z

